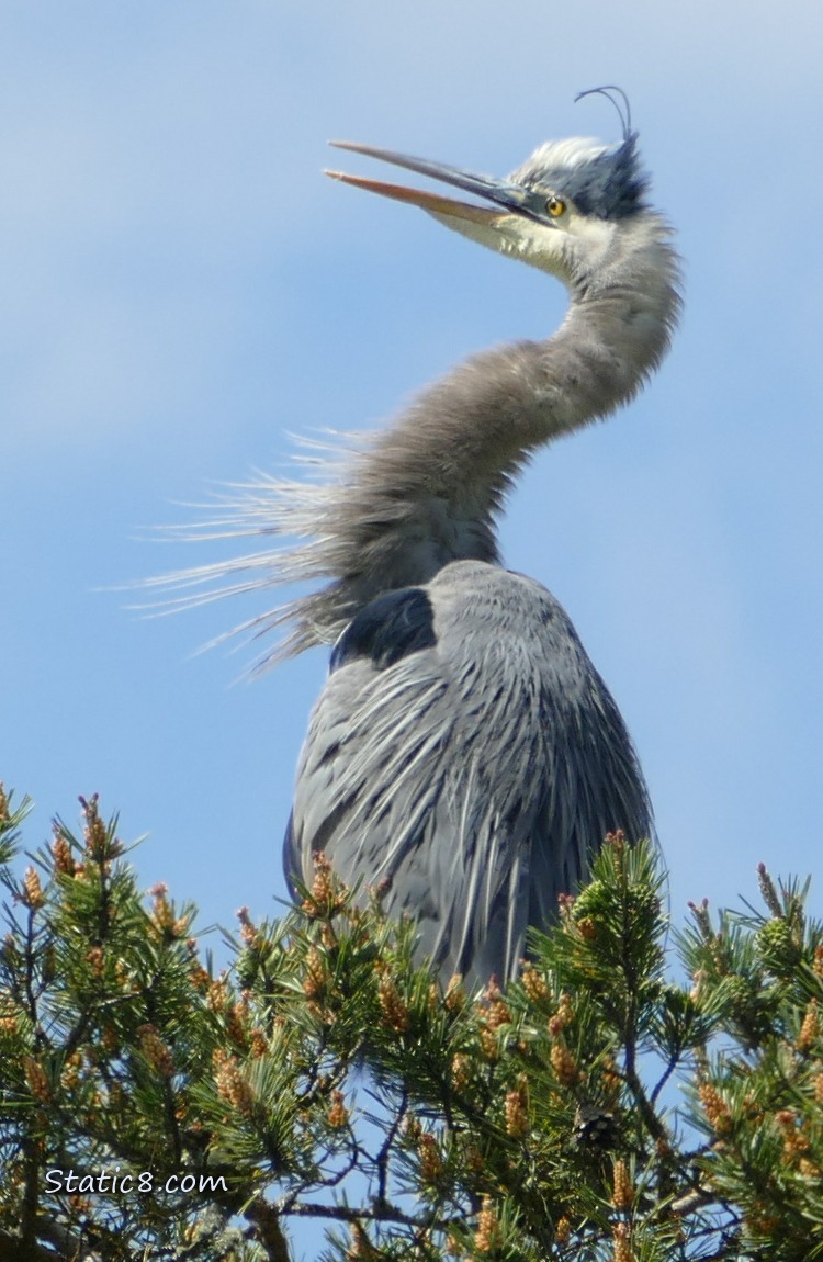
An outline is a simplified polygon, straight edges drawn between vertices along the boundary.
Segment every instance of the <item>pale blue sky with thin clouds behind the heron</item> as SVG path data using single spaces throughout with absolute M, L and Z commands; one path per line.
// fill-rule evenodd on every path
M 562 318 L 549 279 L 324 179 L 326 141 L 505 174 L 617 139 L 573 105 L 617 82 L 685 313 L 639 401 L 535 461 L 505 555 L 621 705 L 675 917 L 754 896 L 759 859 L 815 873 L 819 911 L 817 0 L 25 0 L 0 32 L 0 777 L 37 801 L 29 844 L 98 791 L 202 924 L 284 896 L 324 654 L 236 683 L 251 650 L 192 654 L 265 596 L 146 621 L 112 588 L 218 555 L 146 535 L 285 469 L 290 433 L 380 424 Z

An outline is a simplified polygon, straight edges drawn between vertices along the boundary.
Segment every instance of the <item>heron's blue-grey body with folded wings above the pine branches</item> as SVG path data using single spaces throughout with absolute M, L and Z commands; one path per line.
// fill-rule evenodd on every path
M 388 882 L 444 979 L 507 979 L 589 848 L 650 830 L 617 709 L 554 598 L 496 567 L 457 562 L 358 620 L 312 716 L 287 876 L 311 883 L 326 851 L 348 885 Z

